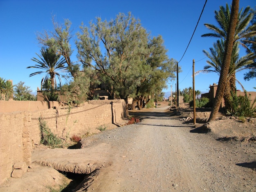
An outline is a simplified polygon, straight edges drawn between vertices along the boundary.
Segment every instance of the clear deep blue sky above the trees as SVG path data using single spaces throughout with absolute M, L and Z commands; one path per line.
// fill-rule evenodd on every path
M 42 76 L 29 77 L 36 69 L 26 69 L 36 63 L 31 58 L 40 53 L 40 45 L 36 40 L 36 33 L 44 30 L 52 30 L 52 16 L 56 16 L 58 23 L 64 19 L 72 22 L 74 33 L 79 31 L 81 22 L 84 25 L 95 17 L 102 20 L 115 18 L 118 13 L 127 14 L 141 20 L 141 25 L 150 31 L 152 36 L 161 35 L 164 45 L 168 49 L 169 58 L 180 61 L 195 29 L 205 0 L 0 0 L 0 77 L 13 80 L 13 84 L 19 81 L 25 82 L 33 92 L 40 88 Z M 179 65 L 182 72 L 179 74 L 179 88 L 192 87 L 192 63 L 195 59 L 195 71 L 203 69 L 206 60 L 203 49 L 209 51 L 216 38 L 202 38 L 208 33 L 204 23 L 216 24 L 214 11 L 219 10 L 220 5 L 232 0 L 208 0 L 193 39 Z M 240 8 L 255 7 L 255 0 L 240 0 Z M 72 60 L 76 61 L 76 47 L 72 42 L 74 53 Z M 241 48 L 240 56 L 245 51 Z M 247 91 L 255 91 L 255 79 L 243 80 L 245 71 L 236 74 L 238 80 Z M 195 76 L 195 89 L 208 92 L 209 85 L 218 83 L 216 74 L 199 74 Z M 175 83 L 167 82 L 168 89 L 171 85 L 175 90 Z M 237 89 L 241 89 L 237 85 Z

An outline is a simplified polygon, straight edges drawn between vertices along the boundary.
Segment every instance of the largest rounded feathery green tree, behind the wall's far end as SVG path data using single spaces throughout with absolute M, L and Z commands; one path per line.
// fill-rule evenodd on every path
M 130 13 L 119 13 L 110 21 L 97 18 L 95 24 L 82 26 L 76 47 L 83 66 L 99 71 L 112 98 L 122 98 L 127 105 L 152 71 L 164 70 L 163 63 L 169 62 L 162 38 L 151 39 Z

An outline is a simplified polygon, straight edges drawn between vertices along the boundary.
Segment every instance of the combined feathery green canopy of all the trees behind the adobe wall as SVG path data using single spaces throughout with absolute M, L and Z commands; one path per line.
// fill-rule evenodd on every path
M 149 100 L 166 87 L 167 78 L 175 77 L 176 61 L 168 58 L 162 36 L 151 37 L 131 13 L 119 13 L 109 21 L 97 17 L 88 26 L 82 23 L 76 35 L 69 20 L 64 25 L 52 21 L 54 30 L 37 38 L 65 59 L 72 78 L 66 76 L 63 93 L 70 99 L 91 97 L 90 89 L 103 84 L 112 99 Z M 77 62 L 70 59 L 72 38 L 76 39 Z

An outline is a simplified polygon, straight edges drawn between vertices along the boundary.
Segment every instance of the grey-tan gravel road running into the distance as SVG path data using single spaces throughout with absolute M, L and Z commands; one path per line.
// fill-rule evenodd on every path
M 256 191 L 255 145 L 191 133 L 193 124 L 182 124 L 167 108 L 82 141 L 111 147 L 109 161 L 78 191 Z

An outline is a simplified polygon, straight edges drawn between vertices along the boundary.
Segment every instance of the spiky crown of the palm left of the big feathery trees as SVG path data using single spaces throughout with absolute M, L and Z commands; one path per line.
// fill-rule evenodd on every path
M 32 58 L 31 60 L 35 61 L 36 65 L 29 66 L 28 68 L 37 68 L 41 69 L 42 71 L 37 71 L 29 75 L 29 77 L 34 75 L 40 75 L 42 73 L 46 73 L 41 81 L 41 86 L 46 85 L 48 80 L 51 81 L 51 88 L 56 89 L 56 77 L 58 78 L 59 82 L 61 83 L 61 72 L 66 71 L 67 67 L 65 66 L 65 58 L 61 58 L 60 55 L 56 54 L 56 52 L 51 48 L 42 48 L 40 50 L 41 55 L 36 54 L 40 59 Z

